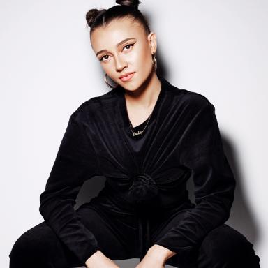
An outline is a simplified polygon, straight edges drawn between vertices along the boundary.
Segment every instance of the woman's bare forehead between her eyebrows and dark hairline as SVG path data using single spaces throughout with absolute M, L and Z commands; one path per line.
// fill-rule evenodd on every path
M 90 40 L 95 50 L 115 46 L 125 38 L 144 38 L 144 30 L 140 22 L 133 18 L 121 18 L 112 20 L 104 27 L 98 27 L 91 32 Z

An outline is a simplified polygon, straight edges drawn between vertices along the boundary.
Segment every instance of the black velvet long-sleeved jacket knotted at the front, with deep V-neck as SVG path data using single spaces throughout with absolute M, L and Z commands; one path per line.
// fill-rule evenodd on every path
M 191 207 L 184 220 L 156 243 L 179 255 L 191 251 L 230 216 L 235 180 L 214 105 L 201 94 L 159 79 L 161 92 L 143 142 L 135 149 L 129 140 L 123 88 L 90 98 L 70 115 L 40 194 L 40 214 L 82 262 L 96 252 L 98 241 L 77 217 L 74 204 L 84 181 L 95 175 L 107 178 L 107 192 L 128 204 L 129 213 L 136 213 L 140 221 L 146 221 L 140 212 L 151 207 Z M 195 204 L 186 190 L 191 176 Z M 148 249 L 148 228 L 140 224 L 141 257 Z

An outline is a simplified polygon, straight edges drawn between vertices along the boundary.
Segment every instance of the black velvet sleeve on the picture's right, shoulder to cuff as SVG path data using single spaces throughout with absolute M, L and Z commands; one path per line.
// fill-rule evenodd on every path
M 214 105 L 209 101 L 201 104 L 193 103 L 186 112 L 187 125 L 179 145 L 180 164 L 191 169 L 195 207 L 156 241 L 181 259 L 187 259 L 211 230 L 228 220 L 236 185 L 223 151 Z

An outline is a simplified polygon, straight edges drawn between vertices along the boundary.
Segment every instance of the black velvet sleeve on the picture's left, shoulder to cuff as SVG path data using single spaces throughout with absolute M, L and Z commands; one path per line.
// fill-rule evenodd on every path
M 98 174 L 98 161 L 87 124 L 70 116 L 54 165 L 40 194 L 40 214 L 57 237 L 85 263 L 96 252 L 94 234 L 84 227 L 74 204 L 84 181 Z

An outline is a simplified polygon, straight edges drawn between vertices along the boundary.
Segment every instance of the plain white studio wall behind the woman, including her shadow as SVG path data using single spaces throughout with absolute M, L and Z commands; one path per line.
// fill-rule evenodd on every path
M 1 267 L 16 239 L 43 221 L 39 195 L 70 114 L 110 90 L 84 16 L 114 3 L 0 1 Z M 165 78 L 216 107 L 238 184 L 228 223 L 268 267 L 268 2 L 144 0 L 140 10 L 156 32 Z

